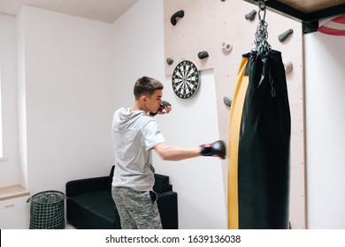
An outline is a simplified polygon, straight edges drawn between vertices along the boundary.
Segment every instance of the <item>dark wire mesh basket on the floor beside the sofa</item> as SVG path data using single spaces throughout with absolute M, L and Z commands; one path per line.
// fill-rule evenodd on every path
M 65 228 L 65 194 L 60 191 L 42 191 L 29 198 L 30 229 Z

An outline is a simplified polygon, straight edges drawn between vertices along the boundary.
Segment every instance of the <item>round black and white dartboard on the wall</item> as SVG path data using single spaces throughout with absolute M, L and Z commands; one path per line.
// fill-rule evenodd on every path
M 199 87 L 199 72 L 196 64 L 184 60 L 173 71 L 173 92 L 181 99 L 188 99 L 196 94 Z

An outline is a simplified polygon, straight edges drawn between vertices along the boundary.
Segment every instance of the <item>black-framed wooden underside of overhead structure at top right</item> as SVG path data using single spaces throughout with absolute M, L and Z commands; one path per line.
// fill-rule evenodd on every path
M 244 0 L 258 4 L 259 0 Z M 264 0 L 267 9 L 302 22 L 313 22 L 345 13 L 345 0 Z

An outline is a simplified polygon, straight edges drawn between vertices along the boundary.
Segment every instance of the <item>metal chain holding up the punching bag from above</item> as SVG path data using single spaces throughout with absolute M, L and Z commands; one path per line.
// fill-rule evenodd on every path
M 262 17 L 262 12 L 264 16 Z M 259 2 L 259 11 L 258 19 L 259 23 L 257 24 L 257 32 L 255 33 L 255 46 L 257 49 L 257 54 L 268 54 L 271 51 L 271 45 L 268 43 L 268 32 L 267 32 L 267 23 L 265 22 L 266 17 L 266 5 L 264 1 Z

